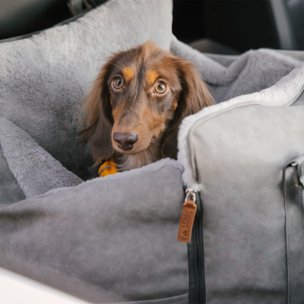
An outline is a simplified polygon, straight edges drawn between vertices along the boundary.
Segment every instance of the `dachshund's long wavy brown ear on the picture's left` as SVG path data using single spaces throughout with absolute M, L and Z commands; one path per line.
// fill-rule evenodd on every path
M 94 166 L 102 160 L 109 159 L 114 154 L 111 132 L 113 125 L 112 106 L 107 79 L 112 70 L 109 60 L 95 79 L 91 91 L 84 98 L 85 128 L 78 135 L 82 135 L 83 143 L 90 143 L 91 152 L 95 160 Z

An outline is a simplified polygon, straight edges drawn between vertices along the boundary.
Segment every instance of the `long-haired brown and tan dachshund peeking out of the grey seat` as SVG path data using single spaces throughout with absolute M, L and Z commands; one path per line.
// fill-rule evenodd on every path
M 181 120 L 214 103 L 188 61 L 151 41 L 109 58 L 85 98 L 83 141 L 118 170 L 177 157 Z

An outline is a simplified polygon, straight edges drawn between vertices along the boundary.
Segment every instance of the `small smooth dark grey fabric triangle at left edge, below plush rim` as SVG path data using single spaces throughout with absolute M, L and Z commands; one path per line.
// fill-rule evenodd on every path
M 0 146 L 0 205 L 12 204 L 23 199 L 25 195 L 9 169 Z

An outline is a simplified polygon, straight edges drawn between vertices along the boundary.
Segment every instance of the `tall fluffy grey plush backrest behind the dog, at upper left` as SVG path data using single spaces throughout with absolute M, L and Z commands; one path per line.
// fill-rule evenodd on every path
M 88 178 L 91 158 L 75 135 L 80 100 L 112 52 L 148 39 L 169 49 L 171 24 L 171 1 L 110 0 L 69 24 L 0 43 L 1 115 Z

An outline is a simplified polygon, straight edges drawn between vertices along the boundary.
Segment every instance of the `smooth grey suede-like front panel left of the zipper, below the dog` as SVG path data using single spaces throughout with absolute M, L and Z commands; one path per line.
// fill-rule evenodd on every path
M 181 171 L 161 164 L 1 207 L 0 266 L 95 302 L 185 295 Z

